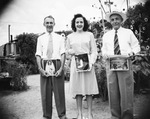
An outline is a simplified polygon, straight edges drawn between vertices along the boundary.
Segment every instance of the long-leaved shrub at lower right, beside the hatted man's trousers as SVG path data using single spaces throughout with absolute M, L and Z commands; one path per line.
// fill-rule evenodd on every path
M 140 93 L 143 88 L 150 88 L 150 56 L 146 53 L 135 56 L 133 63 L 135 93 Z

